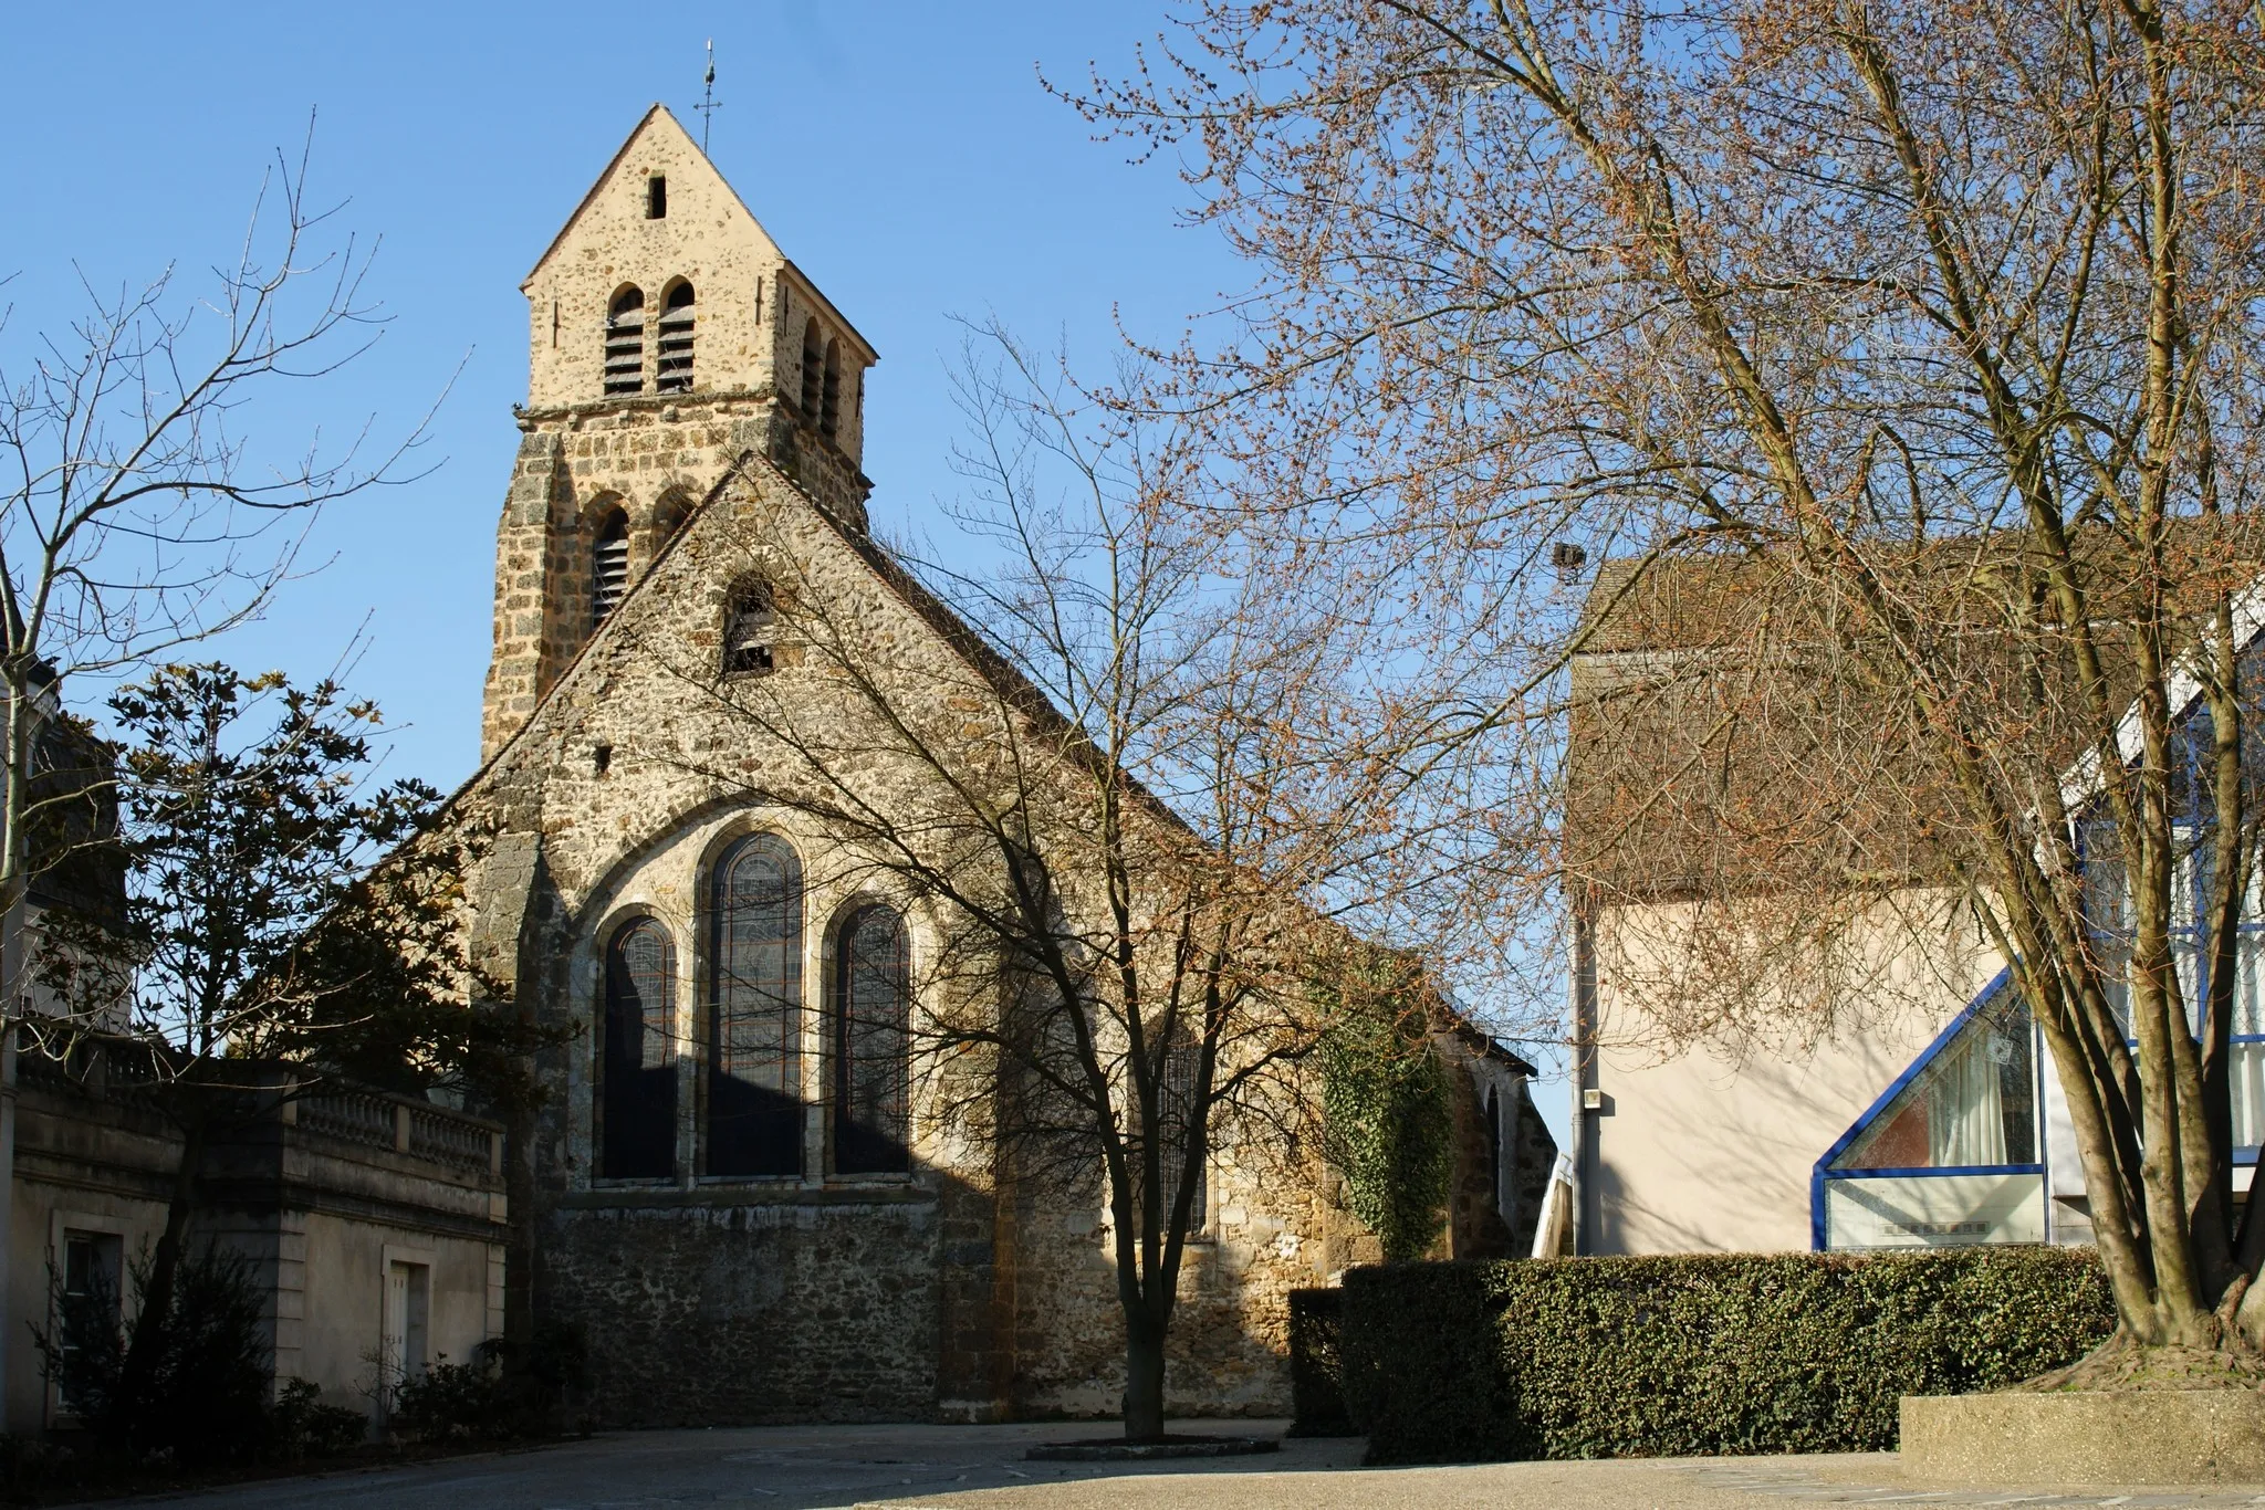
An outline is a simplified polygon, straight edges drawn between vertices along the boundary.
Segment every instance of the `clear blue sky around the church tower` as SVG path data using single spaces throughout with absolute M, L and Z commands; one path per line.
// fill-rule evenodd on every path
M 417 460 L 430 475 L 333 507 L 308 552 L 328 566 L 217 654 L 317 675 L 367 620 L 353 686 L 403 724 L 390 770 L 453 788 L 478 758 L 525 396 L 519 281 L 648 104 L 698 131 L 702 43 L 725 102 L 711 156 L 881 351 L 865 471 L 874 523 L 908 534 L 954 489 L 954 315 L 1105 367 L 1119 315 L 1171 337 L 1241 276 L 1176 224 L 1169 165 L 1128 165 L 1040 88 L 1040 66 L 1083 79 L 1157 25 L 1144 5 L 18 7 L 9 52 L 41 66 L 0 106 L 27 147 L 0 161 L 0 349 L 82 310 L 75 267 L 116 288 L 179 263 L 186 306 L 317 111 L 313 197 L 381 238 L 369 292 L 392 324 L 340 376 L 247 412 L 254 448 L 369 417 L 396 435 L 462 374 Z

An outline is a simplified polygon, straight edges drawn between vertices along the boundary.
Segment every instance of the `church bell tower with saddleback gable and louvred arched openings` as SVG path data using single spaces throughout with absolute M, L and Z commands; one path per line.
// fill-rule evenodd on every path
M 480 758 L 745 455 L 852 530 L 865 337 L 655 104 L 519 285 L 528 403 L 496 530 Z

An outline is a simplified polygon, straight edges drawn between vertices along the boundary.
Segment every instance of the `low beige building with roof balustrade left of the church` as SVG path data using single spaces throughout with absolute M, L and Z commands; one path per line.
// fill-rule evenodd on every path
M 163 1098 L 95 1050 L 16 1059 L 7 1254 L 7 1429 L 75 1424 L 34 1333 L 95 1286 L 134 1304 L 129 1266 L 165 1227 L 181 1134 Z M 503 1127 L 421 1100 L 322 1087 L 226 1127 L 206 1155 L 190 1243 L 233 1250 L 260 1293 L 279 1379 L 308 1379 L 383 1431 L 387 1390 L 503 1333 Z

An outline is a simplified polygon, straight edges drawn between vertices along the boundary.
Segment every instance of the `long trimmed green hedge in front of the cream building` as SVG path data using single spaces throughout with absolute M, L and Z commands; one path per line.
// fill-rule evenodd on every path
M 1345 1275 L 1341 1390 L 1370 1462 L 1878 1451 L 1903 1395 L 2018 1383 L 2113 1324 L 2068 1247 L 1407 1263 Z

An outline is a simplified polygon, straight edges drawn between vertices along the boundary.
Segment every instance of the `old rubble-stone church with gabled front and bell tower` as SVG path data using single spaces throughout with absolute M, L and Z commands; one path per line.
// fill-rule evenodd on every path
M 872 344 L 661 106 L 523 292 L 482 765 L 448 810 L 476 955 L 566 1032 L 510 1139 L 512 1324 L 582 1331 L 605 1424 L 1114 1413 L 1099 1186 L 1022 1186 L 906 1105 L 901 1035 L 845 1023 L 929 989 L 920 899 L 766 801 L 777 761 L 695 686 L 795 695 L 788 577 L 940 677 L 983 659 L 867 534 Z M 1531 1069 L 1441 1041 L 1447 1243 L 1522 1252 L 1554 1159 Z M 1287 1293 L 1375 1256 L 1332 1184 L 1216 1150 L 1173 1413 L 1287 1410 Z

